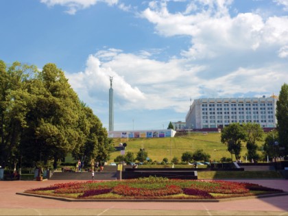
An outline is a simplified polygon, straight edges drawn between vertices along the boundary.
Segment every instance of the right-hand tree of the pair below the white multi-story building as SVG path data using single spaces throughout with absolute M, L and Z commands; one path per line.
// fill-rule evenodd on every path
M 256 145 L 256 141 L 263 140 L 263 129 L 259 125 L 259 123 L 243 123 L 243 129 L 245 132 L 244 141 L 247 142 L 246 147 L 248 149 L 247 158 L 252 161 L 259 160 L 259 154 L 256 152 L 258 146 Z

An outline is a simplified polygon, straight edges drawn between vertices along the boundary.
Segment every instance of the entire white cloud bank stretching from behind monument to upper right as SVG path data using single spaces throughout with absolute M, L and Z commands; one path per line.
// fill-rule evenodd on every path
M 83 72 L 69 75 L 73 88 L 105 103 L 113 76 L 119 109 L 187 112 L 190 98 L 269 96 L 288 80 L 288 16 L 231 16 L 232 0 L 182 1 L 182 12 L 170 12 L 170 2 L 149 1 L 140 14 L 160 37 L 191 38 L 178 57 L 161 61 L 151 50 L 100 50 Z

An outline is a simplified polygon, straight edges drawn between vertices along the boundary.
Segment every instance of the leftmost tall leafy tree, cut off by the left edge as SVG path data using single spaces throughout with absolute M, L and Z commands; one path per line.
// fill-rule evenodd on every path
M 6 68 L 0 61 L 0 163 L 14 167 L 21 160 L 19 145 L 23 128 L 27 127 L 25 115 L 30 97 L 27 84 L 36 67 L 14 62 Z

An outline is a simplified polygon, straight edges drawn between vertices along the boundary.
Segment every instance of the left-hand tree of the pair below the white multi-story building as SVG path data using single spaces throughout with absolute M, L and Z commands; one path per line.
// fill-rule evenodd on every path
M 245 139 L 245 133 L 239 123 L 227 125 L 221 132 L 221 143 L 227 145 L 227 150 L 235 154 L 236 160 L 240 159 L 241 141 Z

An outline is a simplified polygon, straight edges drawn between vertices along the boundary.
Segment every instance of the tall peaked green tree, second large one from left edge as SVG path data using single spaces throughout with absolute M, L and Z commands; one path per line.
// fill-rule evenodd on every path
M 55 64 L 43 67 L 29 93 L 34 95 L 34 106 L 27 115 L 29 130 L 24 144 L 36 151 L 26 152 L 26 155 L 35 153 L 32 158 L 43 160 L 44 164 L 53 159 L 56 168 L 60 158 L 71 152 L 77 143 L 84 142 L 77 129 L 80 101 L 64 72 Z

